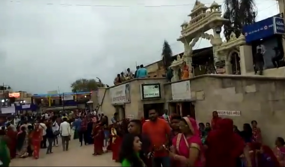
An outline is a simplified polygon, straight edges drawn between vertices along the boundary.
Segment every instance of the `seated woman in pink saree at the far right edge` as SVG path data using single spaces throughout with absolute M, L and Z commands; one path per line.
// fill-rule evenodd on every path
M 277 158 L 280 166 L 285 166 L 285 142 L 282 137 L 278 137 L 275 141 L 275 148 L 273 148 L 273 153 Z

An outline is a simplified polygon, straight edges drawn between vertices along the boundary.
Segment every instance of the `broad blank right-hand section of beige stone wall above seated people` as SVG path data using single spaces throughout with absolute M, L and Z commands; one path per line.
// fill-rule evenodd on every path
M 258 122 L 263 140 L 274 145 L 275 138 L 285 137 L 285 78 L 264 76 L 203 75 L 190 79 L 191 97 L 196 100 L 196 120 L 210 122 L 215 110 L 239 110 L 231 118 L 242 130 L 244 123 Z M 165 84 L 171 91 L 171 85 Z M 170 92 L 166 94 L 170 95 Z M 167 97 L 169 98 L 169 96 Z

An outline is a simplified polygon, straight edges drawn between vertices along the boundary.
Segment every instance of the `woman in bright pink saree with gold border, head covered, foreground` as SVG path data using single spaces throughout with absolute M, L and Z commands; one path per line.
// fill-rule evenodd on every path
M 170 156 L 177 160 L 177 166 L 204 166 L 205 157 L 202 141 L 193 118 L 183 117 L 179 133 L 172 140 Z

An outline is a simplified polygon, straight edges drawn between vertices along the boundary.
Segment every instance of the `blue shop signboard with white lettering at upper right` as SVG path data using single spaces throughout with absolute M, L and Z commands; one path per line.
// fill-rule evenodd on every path
M 274 34 L 285 34 L 284 19 L 273 16 L 250 25 L 245 25 L 243 33 L 245 34 L 245 41 L 247 43 L 270 37 Z

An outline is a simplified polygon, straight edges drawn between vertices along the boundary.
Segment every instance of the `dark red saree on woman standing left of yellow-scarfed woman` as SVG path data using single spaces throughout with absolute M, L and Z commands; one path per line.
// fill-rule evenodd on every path
M 104 131 L 101 124 L 95 125 L 93 128 L 94 134 L 94 154 L 93 155 L 101 155 L 103 154 L 104 147 Z

